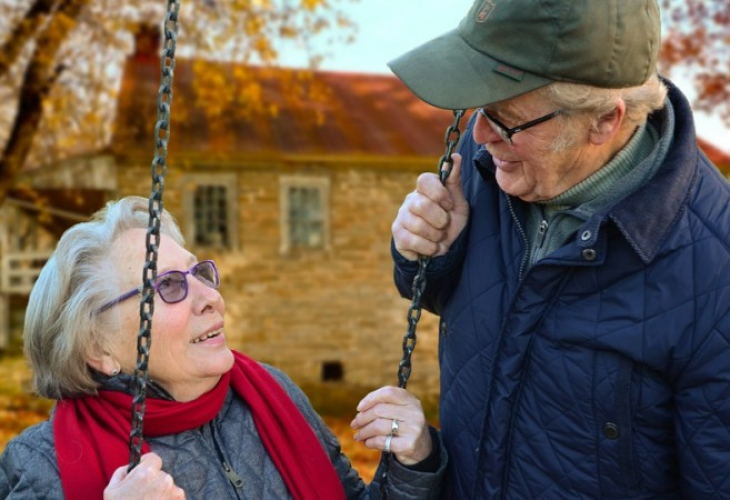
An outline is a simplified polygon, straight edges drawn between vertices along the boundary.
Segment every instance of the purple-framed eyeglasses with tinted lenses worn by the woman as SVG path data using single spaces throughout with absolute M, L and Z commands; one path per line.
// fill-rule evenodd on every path
M 198 262 L 187 271 L 167 271 L 159 274 L 153 283 L 157 295 L 168 304 L 185 300 L 185 297 L 188 296 L 188 274 L 192 274 L 198 281 L 213 289 L 217 289 L 221 284 L 215 262 L 212 260 L 204 260 Z M 96 314 L 103 313 L 110 307 L 134 297 L 141 292 L 142 286 L 138 286 L 134 290 L 120 295 L 111 302 L 107 302 L 96 310 Z

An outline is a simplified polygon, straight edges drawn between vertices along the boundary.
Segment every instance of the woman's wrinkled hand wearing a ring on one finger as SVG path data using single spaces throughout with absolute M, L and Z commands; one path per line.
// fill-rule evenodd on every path
M 413 465 L 431 454 L 433 443 L 421 402 L 398 387 L 382 387 L 365 396 L 357 405 L 358 414 L 350 423 L 354 439 L 365 446 L 382 450 L 393 420 L 398 432 L 390 442 L 390 451 L 404 465 Z

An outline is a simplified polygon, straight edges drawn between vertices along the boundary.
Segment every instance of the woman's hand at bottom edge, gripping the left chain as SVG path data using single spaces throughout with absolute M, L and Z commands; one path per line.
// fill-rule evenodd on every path
M 185 492 L 162 470 L 159 455 L 146 453 L 129 473 L 128 468 L 125 465 L 114 471 L 104 490 L 104 500 L 185 500 Z

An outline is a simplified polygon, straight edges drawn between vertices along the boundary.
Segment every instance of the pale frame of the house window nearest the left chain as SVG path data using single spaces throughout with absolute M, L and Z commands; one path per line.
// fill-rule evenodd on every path
M 202 247 L 212 250 L 237 251 L 239 249 L 238 238 L 238 177 L 236 174 L 185 174 L 182 177 L 183 193 L 182 206 L 185 216 L 183 228 L 185 239 L 188 245 L 194 248 L 201 248 L 195 243 L 195 191 L 200 186 L 219 186 L 226 190 L 226 217 L 229 241 L 227 245 L 220 247 Z

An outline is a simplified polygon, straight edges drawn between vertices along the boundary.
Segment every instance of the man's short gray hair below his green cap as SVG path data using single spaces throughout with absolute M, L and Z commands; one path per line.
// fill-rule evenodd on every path
M 595 130 L 599 119 L 613 111 L 619 100 L 626 103 L 627 126 L 635 127 L 643 124 L 649 114 L 661 109 L 667 99 L 667 87 L 656 73 L 636 87 L 604 89 L 578 83 L 553 82 L 535 92 L 563 111 L 558 119 L 563 121 L 564 126 L 552 144 L 553 151 L 574 147 L 580 131 Z M 573 117 L 580 118 L 571 119 Z

